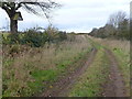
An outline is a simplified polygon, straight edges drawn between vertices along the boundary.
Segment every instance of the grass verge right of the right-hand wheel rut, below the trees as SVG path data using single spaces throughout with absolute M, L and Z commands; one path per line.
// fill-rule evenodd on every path
M 90 38 L 101 46 L 109 48 L 118 61 L 118 68 L 123 77 L 127 96 L 130 96 L 130 41 Z

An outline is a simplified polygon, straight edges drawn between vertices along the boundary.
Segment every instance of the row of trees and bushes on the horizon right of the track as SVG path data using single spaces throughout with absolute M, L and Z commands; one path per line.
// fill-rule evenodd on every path
M 130 40 L 130 21 L 125 12 L 116 12 L 110 15 L 105 26 L 100 29 L 94 28 L 89 35 L 101 38 Z

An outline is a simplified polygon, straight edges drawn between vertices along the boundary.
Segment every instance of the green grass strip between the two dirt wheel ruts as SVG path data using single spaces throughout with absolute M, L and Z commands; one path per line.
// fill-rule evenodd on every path
M 73 87 L 69 97 L 100 97 L 103 91 L 102 85 L 107 82 L 109 75 L 109 59 L 105 50 L 100 48 L 95 62 Z

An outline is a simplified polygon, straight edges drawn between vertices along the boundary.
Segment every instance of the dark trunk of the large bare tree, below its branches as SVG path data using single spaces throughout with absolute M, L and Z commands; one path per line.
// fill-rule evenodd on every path
M 10 18 L 10 32 L 18 33 L 18 20 L 12 20 Z

